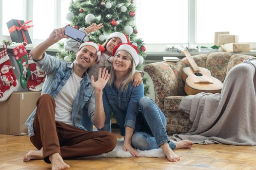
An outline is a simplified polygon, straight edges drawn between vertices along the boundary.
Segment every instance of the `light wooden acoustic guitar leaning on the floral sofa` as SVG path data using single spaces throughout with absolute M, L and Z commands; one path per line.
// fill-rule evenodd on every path
M 185 82 L 184 90 L 188 95 L 194 95 L 200 92 L 220 93 L 222 82 L 211 76 L 211 72 L 206 68 L 198 67 L 190 53 L 179 48 L 178 52 L 185 54 L 190 67 L 183 68 L 181 77 Z

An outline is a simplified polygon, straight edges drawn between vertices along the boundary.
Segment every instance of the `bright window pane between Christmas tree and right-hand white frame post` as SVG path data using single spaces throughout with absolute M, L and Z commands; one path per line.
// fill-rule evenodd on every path
M 147 44 L 188 42 L 188 0 L 137 0 L 138 36 Z

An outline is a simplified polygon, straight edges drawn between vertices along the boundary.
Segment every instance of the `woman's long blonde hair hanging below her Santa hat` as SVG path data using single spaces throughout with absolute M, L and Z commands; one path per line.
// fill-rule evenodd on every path
M 129 68 L 128 73 L 125 75 L 125 77 L 123 78 L 123 80 L 122 80 L 122 82 L 120 84 L 122 92 L 127 91 L 129 83 L 131 82 L 131 79 L 132 79 L 132 77 L 133 77 L 133 75 L 135 73 L 135 62 L 133 60 L 133 57 L 132 57 L 132 55 L 129 52 L 125 51 L 125 53 L 126 53 L 127 57 L 132 61 L 132 68 Z M 108 85 L 109 86 L 112 86 L 112 84 L 115 83 L 114 82 L 115 78 L 116 78 L 116 70 L 114 70 L 114 67 L 112 65 L 111 69 L 110 69 L 110 78 L 108 80 Z

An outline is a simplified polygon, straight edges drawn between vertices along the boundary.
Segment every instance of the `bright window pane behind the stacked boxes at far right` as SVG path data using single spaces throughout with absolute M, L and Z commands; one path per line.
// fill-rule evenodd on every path
M 197 43 L 213 43 L 229 31 L 239 42 L 256 42 L 256 0 L 197 0 Z

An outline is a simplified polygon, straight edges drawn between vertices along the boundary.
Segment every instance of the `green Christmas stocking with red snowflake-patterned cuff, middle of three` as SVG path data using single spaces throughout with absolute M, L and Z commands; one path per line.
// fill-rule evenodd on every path
M 13 54 L 20 68 L 20 85 L 22 88 L 26 88 L 28 79 L 30 77 L 27 50 L 23 44 L 20 44 L 13 49 Z

